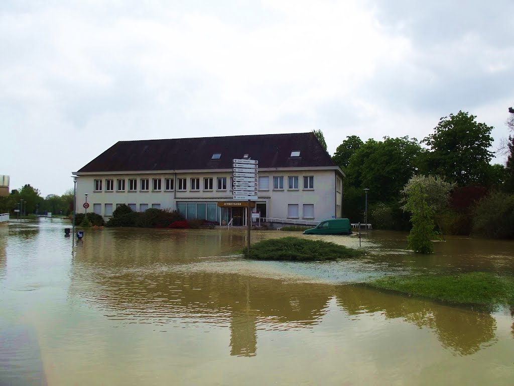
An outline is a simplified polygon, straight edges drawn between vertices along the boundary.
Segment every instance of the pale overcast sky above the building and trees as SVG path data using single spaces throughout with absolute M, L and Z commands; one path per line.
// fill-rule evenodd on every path
M 0 174 L 43 196 L 121 140 L 507 136 L 512 0 L 2 0 Z M 503 162 L 503 157 L 495 161 Z

